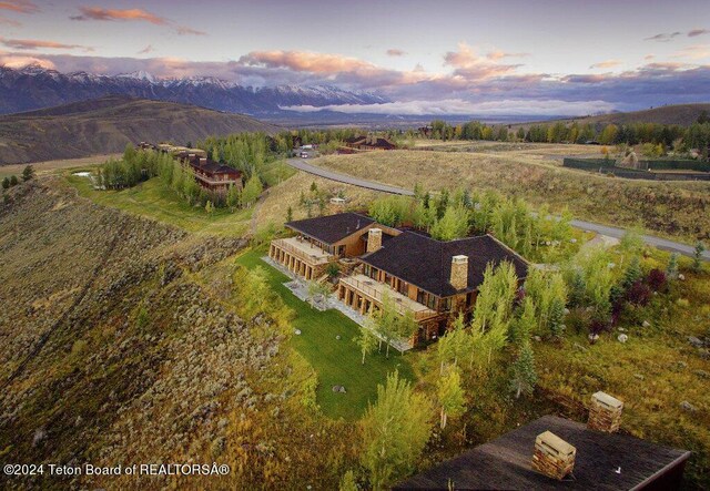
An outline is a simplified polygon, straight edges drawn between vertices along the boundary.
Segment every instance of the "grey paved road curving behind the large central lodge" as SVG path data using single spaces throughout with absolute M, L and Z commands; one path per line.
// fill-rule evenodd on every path
M 343 174 L 327 168 L 318 167 L 317 165 L 310 164 L 302 158 L 288 158 L 286 163 L 298 171 L 307 172 L 308 174 L 317 175 L 320 177 L 336 181 L 338 183 L 351 184 L 353 186 L 364 187 L 366 190 L 379 191 L 389 194 L 399 194 L 403 196 L 413 196 L 412 190 L 405 190 L 404 187 L 390 186 L 387 184 L 381 184 L 373 181 L 363 180 L 348 174 Z M 596 232 L 597 234 L 608 235 L 609 237 L 621 238 L 627 233 L 625 228 L 613 227 L 609 225 L 596 224 L 592 222 L 586 222 L 582 219 L 572 219 L 570 224 L 576 228 L 584 231 Z M 682 244 L 676 241 L 669 241 L 667 238 L 656 237 L 653 235 L 642 235 L 641 238 L 646 244 L 658 247 L 662 250 L 670 253 L 678 253 L 684 256 L 693 255 L 693 246 Z M 706 250 L 702 255 L 704 260 L 710 262 L 710 250 Z

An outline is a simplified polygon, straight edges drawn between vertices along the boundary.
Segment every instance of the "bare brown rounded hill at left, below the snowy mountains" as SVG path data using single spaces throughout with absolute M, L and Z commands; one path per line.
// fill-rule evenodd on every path
M 210 135 L 278 127 L 241 114 L 106 96 L 0 117 L 0 165 L 121 152 L 126 143 L 184 144 Z

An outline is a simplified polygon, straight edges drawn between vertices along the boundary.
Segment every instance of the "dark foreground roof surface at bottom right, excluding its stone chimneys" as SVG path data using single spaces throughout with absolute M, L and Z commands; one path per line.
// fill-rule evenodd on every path
M 562 481 L 531 470 L 535 439 L 551 431 L 577 448 L 575 468 Z M 447 460 L 395 490 L 672 490 L 690 452 L 586 424 L 545 416 L 488 443 Z

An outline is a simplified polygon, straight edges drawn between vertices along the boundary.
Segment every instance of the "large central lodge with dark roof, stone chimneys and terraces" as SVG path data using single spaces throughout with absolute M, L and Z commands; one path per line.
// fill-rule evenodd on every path
M 294 235 L 271 243 L 273 260 L 308 280 L 337 264 L 344 273 L 338 299 L 366 314 L 388 296 L 400 314 L 412 313 L 419 324 L 413 345 L 442 335 L 459 313 L 473 310 L 488 264 L 507 260 L 518 278 L 527 275 L 527 262 L 490 235 L 442 242 L 357 213 L 288 222 L 286 227 Z

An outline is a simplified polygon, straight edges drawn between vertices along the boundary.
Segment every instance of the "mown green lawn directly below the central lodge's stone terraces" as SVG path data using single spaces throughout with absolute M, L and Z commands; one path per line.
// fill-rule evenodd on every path
M 383 383 L 389 371 L 398 369 L 403 377 L 414 379 L 409 362 L 413 354 L 400 356 L 390 349 L 386 359 L 383 348 L 382 355 L 374 354 L 362 365 L 359 348 L 353 342 L 361 327 L 338 310 L 318 311 L 296 298 L 283 285 L 288 277 L 264 263 L 261 259 L 264 254 L 264 250 L 248 250 L 236 263 L 247 268 L 264 267 L 273 289 L 295 310 L 293 327 L 300 329 L 301 335 L 294 335 L 290 344 L 318 374 L 316 401 L 326 416 L 347 420 L 361 417 L 368 401 L 377 398 L 377 383 Z M 344 386 L 347 393 L 334 393 L 335 385 Z

